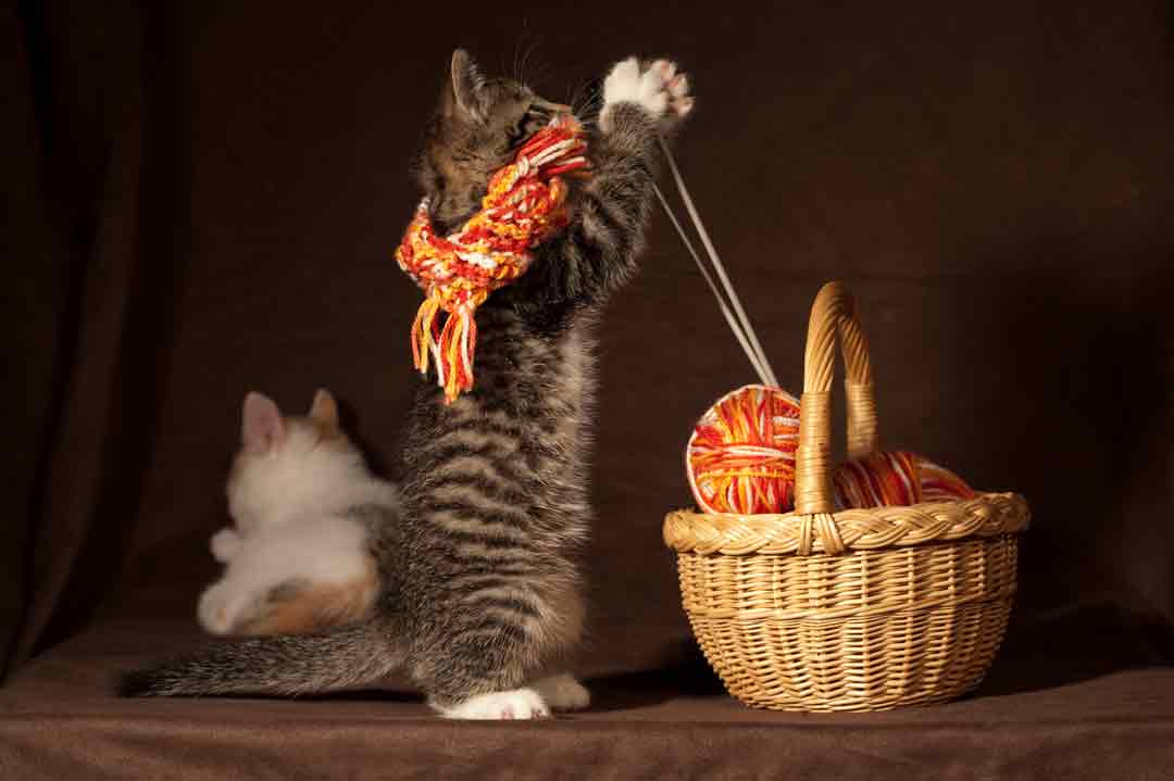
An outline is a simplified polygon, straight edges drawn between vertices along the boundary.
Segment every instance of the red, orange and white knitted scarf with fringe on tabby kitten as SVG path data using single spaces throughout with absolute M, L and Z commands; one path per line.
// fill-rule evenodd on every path
M 568 114 L 551 120 L 493 175 L 480 211 L 451 236 L 432 230 L 427 198 L 416 210 L 396 262 L 425 294 L 412 324 L 412 362 L 424 374 L 432 356 L 446 405 L 473 387 L 477 307 L 521 277 L 533 262 L 531 250 L 569 220 L 559 175 L 588 168 L 583 135 Z M 443 330 L 440 310 L 448 313 Z

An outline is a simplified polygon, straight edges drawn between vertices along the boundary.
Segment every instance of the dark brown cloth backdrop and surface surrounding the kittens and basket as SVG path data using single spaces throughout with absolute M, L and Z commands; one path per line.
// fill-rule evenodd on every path
M 0 9 L 0 776 L 1158 777 L 1172 29 L 1158 0 Z M 330 387 L 394 466 L 419 293 L 392 250 L 457 45 L 555 100 L 630 53 L 690 72 L 679 159 L 783 385 L 802 385 L 811 298 L 843 279 L 883 441 L 1032 503 L 1018 623 L 980 697 L 757 713 L 682 661 L 661 518 L 689 501 L 691 423 L 754 378 L 662 218 L 600 328 L 598 708 L 468 726 L 403 698 L 109 697 L 115 668 L 198 639 L 245 392 L 296 407 Z

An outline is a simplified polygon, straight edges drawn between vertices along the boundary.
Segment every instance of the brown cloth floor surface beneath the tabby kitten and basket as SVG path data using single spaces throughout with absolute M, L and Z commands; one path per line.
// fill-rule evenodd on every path
M 687 654 L 618 673 L 648 661 L 621 647 L 585 659 L 588 712 L 453 724 L 394 685 L 297 701 L 117 699 L 115 670 L 198 639 L 188 625 L 114 623 L 0 694 L 0 777 L 1170 777 L 1174 668 L 1145 633 L 1109 609 L 1016 630 L 976 697 L 937 707 L 754 711 Z

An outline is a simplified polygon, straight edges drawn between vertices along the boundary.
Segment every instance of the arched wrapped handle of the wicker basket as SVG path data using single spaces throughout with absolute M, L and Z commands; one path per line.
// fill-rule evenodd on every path
M 848 405 L 848 456 L 858 459 L 878 448 L 876 400 L 869 344 L 856 315 L 856 299 L 843 283 L 819 288 L 808 321 L 803 358 L 803 399 L 799 402 L 799 443 L 795 453 L 795 512 L 810 516 L 799 550 L 810 552 L 811 534 L 828 552 L 844 550 L 831 512 L 831 379 L 836 342 L 844 356 Z M 807 545 L 803 544 L 807 538 Z M 804 550 L 805 549 L 805 550 Z

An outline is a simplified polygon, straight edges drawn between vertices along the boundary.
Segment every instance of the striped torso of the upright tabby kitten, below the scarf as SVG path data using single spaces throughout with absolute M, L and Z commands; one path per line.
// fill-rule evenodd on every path
M 479 314 L 478 382 L 426 387 L 405 443 L 413 677 L 438 707 L 512 690 L 568 648 L 583 606 L 573 555 L 589 524 L 591 339 Z

